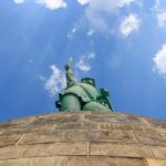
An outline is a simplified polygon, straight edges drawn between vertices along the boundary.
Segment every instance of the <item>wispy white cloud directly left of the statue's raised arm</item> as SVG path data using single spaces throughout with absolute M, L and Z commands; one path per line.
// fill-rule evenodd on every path
M 51 95 L 55 95 L 65 86 L 65 74 L 60 71 L 55 64 L 51 65 L 52 74 L 45 81 L 44 87 Z

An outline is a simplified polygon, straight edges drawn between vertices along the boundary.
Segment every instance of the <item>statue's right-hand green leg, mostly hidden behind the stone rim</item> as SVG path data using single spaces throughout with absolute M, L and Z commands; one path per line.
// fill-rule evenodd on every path
M 111 111 L 110 108 L 107 108 L 106 106 L 97 102 L 89 102 L 83 106 L 82 110 L 84 111 Z

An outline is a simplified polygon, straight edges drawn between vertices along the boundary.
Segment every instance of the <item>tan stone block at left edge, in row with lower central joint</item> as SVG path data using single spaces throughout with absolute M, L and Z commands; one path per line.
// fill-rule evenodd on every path
M 0 148 L 0 159 L 13 159 L 23 156 L 27 146 L 7 146 Z

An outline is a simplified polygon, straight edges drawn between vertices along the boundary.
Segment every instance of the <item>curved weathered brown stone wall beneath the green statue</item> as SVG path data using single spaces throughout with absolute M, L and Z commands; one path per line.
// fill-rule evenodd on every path
M 166 122 L 70 112 L 0 124 L 0 166 L 166 166 Z

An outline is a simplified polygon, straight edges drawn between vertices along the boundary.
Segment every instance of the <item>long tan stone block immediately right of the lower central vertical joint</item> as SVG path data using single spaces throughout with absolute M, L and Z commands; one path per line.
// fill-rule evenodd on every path
M 132 144 L 120 145 L 110 143 L 91 143 L 90 155 L 153 158 L 148 147 Z

